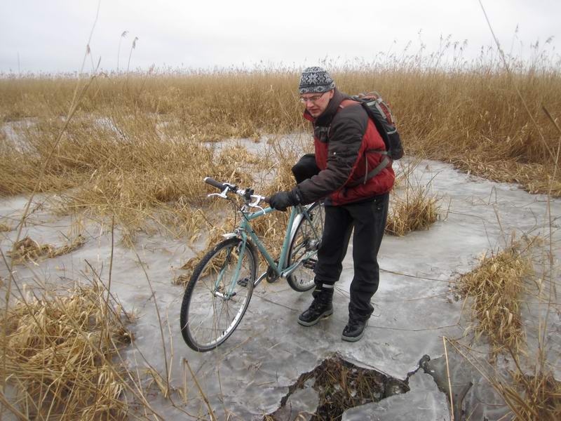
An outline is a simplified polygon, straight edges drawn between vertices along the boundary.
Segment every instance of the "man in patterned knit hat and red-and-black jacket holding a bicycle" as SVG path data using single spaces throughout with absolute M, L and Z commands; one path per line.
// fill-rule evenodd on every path
M 380 154 L 386 147 L 373 121 L 358 102 L 335 88 L 325 69 L 304 69 L 299 93 L 306 105 L 304 118 L 313 125 L 316 154 L 303 156 L 292 168 L 297 186 L 273 194 L 269 203 L 285 210 L 325 199 L 325 228 L 314 268 L 316 288 L 313 302 L 298 318 L 302 326 L 313 326 L 333 313 L 334 283 L 354 228 L 354 276 L 342 340 L 355 342 L 363 337 L 374 311 L 370 299 L 379 283 L 377 254 L 396 176 L 391 161 Z

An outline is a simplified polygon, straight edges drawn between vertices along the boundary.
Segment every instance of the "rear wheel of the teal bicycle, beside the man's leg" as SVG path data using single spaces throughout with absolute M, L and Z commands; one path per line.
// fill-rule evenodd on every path
M 302 218 L 298 223 L 298 227 L 292 236 L 290 246 L 288 248 L 287 266 L 302 259 L 305 253 L 310 250 L 317 250 L 320 246 L 321 238 L 323 236 L 323 225 L 325 223 L 325 208 L 323 202 L 313 203 L 308 209 L 308 213 L 313 224 L 311 229 L 310 221 L 307 218 Z M 304 292 L 311 290 L 315 285 L 313 278 L 313 267 L 315 267 L 317 258 L 312 258 L 303 262 L 295 272 L 292 272 L 287 277 L 288 285 L 293 290 Z

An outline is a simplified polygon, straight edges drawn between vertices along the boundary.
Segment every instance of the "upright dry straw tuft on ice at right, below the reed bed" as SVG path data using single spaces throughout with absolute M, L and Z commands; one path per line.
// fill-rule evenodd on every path
M 492 359 L 505 349 L 522 351 L 524 332 L 520 300 L 524 279 L 532 274 L 532 261 L 518 241 L 499 253 L 482 255 L 478 267 L 459 278 L 461 294 L 473 298 L 477 335 L 485 333 L 492 346 Z

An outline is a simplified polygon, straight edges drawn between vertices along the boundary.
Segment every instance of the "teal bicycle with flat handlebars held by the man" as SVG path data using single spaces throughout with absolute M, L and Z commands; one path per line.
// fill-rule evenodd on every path
M 203 256 L 185 288 L 181 333 L 185 343 L 198 352 L 215 349 L 234 333 L 248 309 L 253 289 L 263 279 L 286 279 L 299 292 L 313 288 L 313 268 L 325 220 L 323 202 L 293 206 L 283 247 L 275 260 L 251 227 L 253 220 L 275 210 L 259 206 L 266 197 L 209 177 L 204 181 L 221 191 L 208 196 L 230 199 L 231 194 L 237 194 L 243 198 L 243 205 L 239 208 L 240 224 L 234 232 L 223 234 L 225 239 Z M 259 277 L 257 251 L 269 265 Z

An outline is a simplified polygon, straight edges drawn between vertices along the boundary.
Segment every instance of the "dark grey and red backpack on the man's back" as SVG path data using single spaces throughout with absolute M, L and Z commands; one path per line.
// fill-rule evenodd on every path
M 396 121 L 393 119 L 388 104 L 381 99 L 381 95 L 376 91 L 359 93 L 351 96 L 351 100 L 360 102 L 360 105 L 363 106 L 374 122 L 381 138 L 384 140 L 388 156 L 393 161 L 400 159 L 403 156 L 403 146 L 396 128 Z

